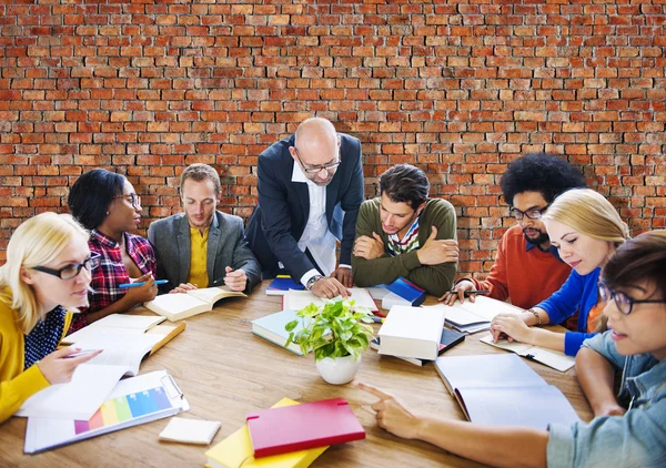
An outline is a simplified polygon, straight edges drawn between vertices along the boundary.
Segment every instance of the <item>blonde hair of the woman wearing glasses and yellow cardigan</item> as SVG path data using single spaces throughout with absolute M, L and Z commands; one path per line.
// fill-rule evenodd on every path
M 18 323 L 24 334 L 40 319 L 40 304 L 32 287 L 22 281 L 21 268 L 52 262 L 77 234 L 88 242 L 88 231 L 71 215 L 42 213 L 26 221 L 11 236 L 7 263 L 0 267 L 0 301 L 18 312 Z

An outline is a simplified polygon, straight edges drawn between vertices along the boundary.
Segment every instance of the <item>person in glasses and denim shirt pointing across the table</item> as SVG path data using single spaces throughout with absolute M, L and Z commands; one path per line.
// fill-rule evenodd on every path
M 576 374 L 595 418 L 547 430 L 420 416 L 376 396 L 377 425 L 492 466 L 666 466 L 666 231 L 640 234 L 604 266 L 599 289 L 612 330 L 587 339 Z M 618 398 L 615 375 L 623 372 Z

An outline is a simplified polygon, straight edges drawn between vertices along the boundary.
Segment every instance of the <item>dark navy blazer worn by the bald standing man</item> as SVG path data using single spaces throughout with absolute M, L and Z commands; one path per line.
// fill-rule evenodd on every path
M 339 135 L 341 163 L 326 185 L 326 221 L 329 231 L 341 243 L 340 263 L 351 265 L 356 217 L 363 203 L 361 142 Z M 295 161 L 289 147 L 293 144 L 292 135 L 259 155 L 259 204 L 248 223 L 246 237 L 264 278 L 274 277 L 280 269 L 278 262 L 282 262 L 297 283 L 317 266 L 297 245 L 310 215 L 310 194 L 307 184 L 291 181 Z

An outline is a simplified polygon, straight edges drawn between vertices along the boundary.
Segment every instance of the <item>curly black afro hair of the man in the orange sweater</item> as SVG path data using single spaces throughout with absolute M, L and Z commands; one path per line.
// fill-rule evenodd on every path
M 509 205 L 518 193 L 538 192 L 547 203 L 569 189 L 585 187 L 583 174 L 564 159 L 547 153 L 525 154 L 512 162 L 500 181 Z

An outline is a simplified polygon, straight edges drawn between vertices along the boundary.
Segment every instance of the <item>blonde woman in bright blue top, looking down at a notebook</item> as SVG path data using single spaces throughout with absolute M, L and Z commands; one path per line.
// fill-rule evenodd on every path
M 597 283 L 602 267 L 615 250 L 629 238 L 629 230 L 615 207 L 589 189 L 574 189 L 559 195 L 544 224 L 562 261 L 572 273 L 558 292 L 519 315 L 502 314 L 491 325 L 493 339 L 528 343 L 575 356 L 583 340 L 598 330 L 604 301 Z M 577 332 L 548 332 L 535 325 L 561 324 L 578 311 Z

